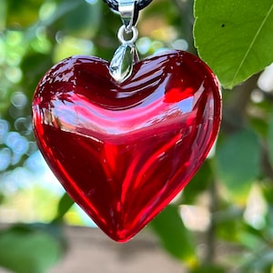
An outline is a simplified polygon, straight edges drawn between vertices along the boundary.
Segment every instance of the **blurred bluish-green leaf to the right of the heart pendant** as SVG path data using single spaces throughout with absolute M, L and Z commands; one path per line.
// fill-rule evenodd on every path
M 258 136 L 240 130 L 219 143 L 216 152 L 216 171 L 229 193 L 245 201 L 252 182 L 259 174 Z

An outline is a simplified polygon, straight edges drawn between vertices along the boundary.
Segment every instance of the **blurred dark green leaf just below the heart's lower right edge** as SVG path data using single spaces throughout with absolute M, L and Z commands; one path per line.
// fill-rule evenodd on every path
M 196 263 L 195 248 L 187 228 L 178 215 L 177 207 L 167 206 L 150 224 L 162 246 L 175 258 L 188 265 Z

